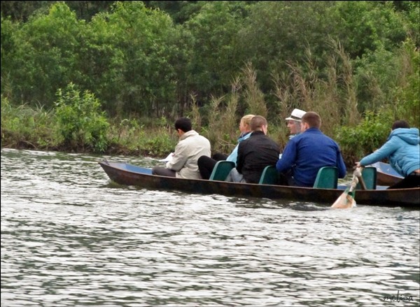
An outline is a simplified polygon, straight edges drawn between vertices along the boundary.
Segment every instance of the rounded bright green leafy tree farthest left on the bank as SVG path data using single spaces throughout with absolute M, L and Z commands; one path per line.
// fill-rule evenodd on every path
M 19 45 L 15 57 L 1 67 L 2 75 L 8 74 L 18 85 L 15 97 L 48 107 L 57 88 L 77 82 L 77 37 L 82 24 L 64 3 L 56 3 L 48 15 L 36 15 L 22 25 L 15 36 Z

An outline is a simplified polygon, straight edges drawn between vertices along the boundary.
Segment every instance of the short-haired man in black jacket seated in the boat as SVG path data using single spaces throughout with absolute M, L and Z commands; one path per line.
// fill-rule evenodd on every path
M 255 115 L 251 120 L 251 136 L 239 143 L 237 166 L 226 181 L 259 183 L 265 166 L 275 165 L 280 148 L 267 134 L 267 120 Z

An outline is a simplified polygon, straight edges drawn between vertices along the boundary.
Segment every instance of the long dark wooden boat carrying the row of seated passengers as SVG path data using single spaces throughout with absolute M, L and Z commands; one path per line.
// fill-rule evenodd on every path
M 290 199 L 332 205 L 344 192 L 339 189 L 315 189 L 283 185 L 230 183 L 218 180 L 183 179 L 152 175 L 151 169 L 121 162 L 99 162 L 111 180 L 120 185 L 146 189 L 178 190 L 197 194 L 222 194 L 232 197 Z M 357 190 L 357 204 L 372 206 L 420 207 L 420 187 L 397 190 Z

